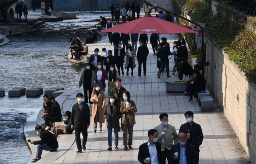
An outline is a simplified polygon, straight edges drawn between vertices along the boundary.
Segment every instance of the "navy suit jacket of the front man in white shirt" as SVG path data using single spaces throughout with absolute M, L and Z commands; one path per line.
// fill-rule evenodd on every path
M 157 156 L 158 156 L 158 162 L 159 164 L 165 164 L 165 161 L 162 161 L 162 151 L 161 151 L 161 144 L 159 142 L 155 142 L 156 143 L 156 152 L 157 152 Z M 138 154 L 138 161 L 140 161 L 140 163 L 145 164 L 144 160 L 146 160 L 146 158 L 150 158 L 150 154 L 149 154 L 149 150 L 148 150 L 148 142 L 140 145 L 139 148 L 139 154 Z

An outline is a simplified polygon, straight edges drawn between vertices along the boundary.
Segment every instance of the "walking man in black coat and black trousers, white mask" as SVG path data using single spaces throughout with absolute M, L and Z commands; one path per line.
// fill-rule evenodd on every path
M 81 153 L 82 149 L 86 150 L 86 142 L 87 142 L 87 129 L 90 126 L 90 108 L 89 106 L 83 102 L 84 95 L 82 93 L 78 93 L 76 95 L 76 99 L 78 103 L 74 104 L 71 112 L 71 128 L 75 128 L 75 136 L 76 136 L 76 146 L 78 151 L 76 153 Z M 83 134 L 83 148 L 81 145 L 81 137 L 80 133 Z

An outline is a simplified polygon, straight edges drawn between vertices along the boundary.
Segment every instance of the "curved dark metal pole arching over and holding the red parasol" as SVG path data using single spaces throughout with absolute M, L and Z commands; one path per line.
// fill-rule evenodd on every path
M 164 10 L 165 12 L 169 12 L 170 14 L 173 14 L 174 16 L 177 16 L 177 17 L 180 17 L 180 18 L 182 18 L 182 19 L 184 19 L 184 20 L 186 20 L 186 21 L 188 21 L 188 22 L 190 22 L 190 23 L 192 23 L 192 24 L 195 24 L 196 26 L 198 26 L 198 27 L 200 27 L 201 28 L 201 34 L 202 34 L 202 57 L 203 57 L 203 67 L 202 67 L 202 75 L 204 76 L 204 59 L 205 59 L 205 57 L 204 57 L 204 30 L 203 30 L 203 28 L 202 28 L 202 26 L 200 26 L 198 23 L 196 23 L 196 22 L 193 22 L 193 21 L 191 21 L 191 20 L 188 20 L 187 18 L 184 18 L 183 16 L 180 16 L 180 15 L 178 15 L 178 14 L 176 14 L 176 13 L 173 13 L 173 12 L 170 12 L 169 10 L 166 10 L 166 9 L 164 9 L 164 8 L 161 8 L 161 7 L 159 7 L 159 6 L 154 6 L 154 7 L 152 7 L 152 8 L 150 8 L 150 10 L 148 11 L 148 15 L 150 15 L 150 12 L 151 12 L 151 10 L 153 9 L 153 8 L 159 8 L 159 9 L 161 9 L 161 10 Z

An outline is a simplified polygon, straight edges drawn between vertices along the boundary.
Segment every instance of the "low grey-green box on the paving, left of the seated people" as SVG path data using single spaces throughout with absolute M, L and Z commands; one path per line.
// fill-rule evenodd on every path
M 167 92 L 182 92 L 186 90 L 186 81 L 166 81 Z

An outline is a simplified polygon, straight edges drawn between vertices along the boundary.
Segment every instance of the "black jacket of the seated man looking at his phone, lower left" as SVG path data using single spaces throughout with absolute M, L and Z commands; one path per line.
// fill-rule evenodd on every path
M 42 129 L 42 131 L 40 132 L 40 138 L 41 138 L 41 140 L 34 141 L 34 145 L 46 144 L 50 148 L 58 148 L 59 147 L 56 137 L 48 130 Z

